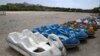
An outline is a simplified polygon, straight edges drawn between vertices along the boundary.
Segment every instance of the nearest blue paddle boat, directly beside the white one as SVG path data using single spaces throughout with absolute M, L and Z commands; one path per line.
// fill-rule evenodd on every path
M 45 28 L 46 30 L 43 30 Z M 38 29 L 38 30 L 37 30 Z M 41 32 L 43 30 L 43 32 Z M 79 44 L 79 39 L 76 38 L 73 31 L 65 31 L 58 24 L 42 26 L 41 28 L 33 28 L 32 32 L 40 32 L 45 37 L 48 37 L 50 34 L 55 34 L 59 37 L 61 42 L 66 48 L 76 47 Z

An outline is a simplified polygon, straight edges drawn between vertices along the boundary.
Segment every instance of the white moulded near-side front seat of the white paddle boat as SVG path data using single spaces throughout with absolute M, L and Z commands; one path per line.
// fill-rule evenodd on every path
M 22 47 L 31 52 L 36 51 L 39 48 L 38 45 L 35 42 L 31 41 L 31 38 L 28 38 L 27 36 L 25 36 L 20 43 Z

